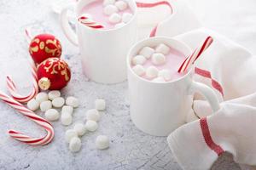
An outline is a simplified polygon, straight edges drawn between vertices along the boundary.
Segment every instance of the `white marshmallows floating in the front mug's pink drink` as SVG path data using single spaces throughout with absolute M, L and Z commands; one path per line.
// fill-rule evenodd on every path
M 167 69 L 161 71 L 154 65 L 164 65 L 166 63 L 166 55 L 170 53 L 170 48 L 160 43 L 156 48 L 144 47 L 139 53 L 131 59 L 132 70 L 139 77 L 146 76 L 148 80 L 153 82 L 168 82 L 171 80 L 171 72 Z M 151 59 L 153 65 L 144 68 L 144 64 Z

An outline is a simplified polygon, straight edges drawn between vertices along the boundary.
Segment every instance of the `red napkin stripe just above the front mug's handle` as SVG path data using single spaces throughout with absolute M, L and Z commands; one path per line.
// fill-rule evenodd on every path
M 212 74 L 210 71 L 206 71 L 206 70 L 200 69 L 198 67 L 195 67 L 195 74 L 200 75 L 201 77 L 210 78 L 212 81 L 212 87 L 215 88 L 216 90 L 218 90 L 218 92 L 224 97 L 224 91 L 223 91 L 222 86 L 220 85 L 219 82 L 212 79 Z

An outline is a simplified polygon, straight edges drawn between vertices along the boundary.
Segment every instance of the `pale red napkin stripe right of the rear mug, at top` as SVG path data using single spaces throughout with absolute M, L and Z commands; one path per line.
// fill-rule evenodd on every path
M 156 2 L 156 3 L 138 3 L 137 2 L 137 8 L 154 8 L 154 7 L 160 6 L 160 5 L 166 5 L 168 8 L 171 9 L 171 14 L 173 13 L 172 5 L 168 1 L 160 1 L 160 2 Z M 150 32 L 149 37 L 154 37 L 155 36 L 155 33 L 157 31 L 157 27 L 158 26 L 154 27 L 154 29 Z

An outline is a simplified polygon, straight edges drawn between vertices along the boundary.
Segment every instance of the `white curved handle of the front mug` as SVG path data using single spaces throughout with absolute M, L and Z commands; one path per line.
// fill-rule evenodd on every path
M 189 94 L 194 94 L 195 92 L 202 94 L 207 99 L 212 107 L 213 112 L 219 110 L 220 105 L 218 102 L 218 97 L 212 90 L 212 88 L 209 88 L 206 84 L 203 84 L 201 82 L 192 81 L 189 87 Z

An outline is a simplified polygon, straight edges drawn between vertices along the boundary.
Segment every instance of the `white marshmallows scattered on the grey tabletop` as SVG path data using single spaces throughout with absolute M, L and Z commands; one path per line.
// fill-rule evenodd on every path
M 66 103 L 66 105 L 65 105 Z M 96 109 L 92 109 L 86 112 L 86 123 L 75 123 L 73 129 L 67 130 L 65 133 L 65 139 L 69 143 L 69 150 L 77 152 L 81 148 L 81 139 L 79 136 L 83 136 L 87 131 L 96 131 L 97 122 L 101 118 L 101 112 L 106 108 L 106 102 L 104 99 L 96 99 Z M 68 126 L 73 122 L 73 108 L 79 106 L 79 99 L 70 96 L 65 100 L 61 97 L 61 92 L 58 90 L 49 91 L 49 93 L 41 92 L 35 99 L 31 99 L 27 103 L 27 108 L 31 111 L 37 111 L 39 108 L 44 112 L 44 116 L 48 121 L 57 121 L 60 118 L 60 113 L 56 109 L 61 109 L 61 124 Z M 53 109 L 53 107 L 55 109 Z M 103 150 L 109 146 L 108 136 L 99 135 L 96 138 L 96 148 Z

